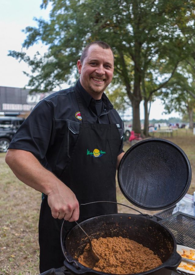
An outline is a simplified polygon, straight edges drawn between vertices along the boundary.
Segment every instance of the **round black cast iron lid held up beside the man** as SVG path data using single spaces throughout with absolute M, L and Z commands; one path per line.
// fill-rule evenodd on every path
M 152 138 L 129 148 L 120 161 L 118 182 L 132 204 L 147 210 L 175 205 L 190 187 L 190 161 L 171 141 Z

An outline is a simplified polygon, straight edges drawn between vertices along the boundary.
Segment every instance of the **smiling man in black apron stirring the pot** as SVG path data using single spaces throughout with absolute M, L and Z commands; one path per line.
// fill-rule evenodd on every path
M 9 145 L 6 163 L 16 177 L 43 194 L 39 218 L 40 272 L 63 265 L 60 229 L 117 213 L 115 173 L 124 154 L 123 123 L 103 93 L 114 56 L 105 42 L 85 47 L 75 87 L 40 101 Z

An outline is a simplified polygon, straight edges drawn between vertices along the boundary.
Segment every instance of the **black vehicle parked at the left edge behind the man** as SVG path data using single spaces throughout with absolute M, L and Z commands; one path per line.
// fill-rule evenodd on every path
M 10 141 L 25 119 L 15 116 L 0 116 L 0 152 L 7 152 Z

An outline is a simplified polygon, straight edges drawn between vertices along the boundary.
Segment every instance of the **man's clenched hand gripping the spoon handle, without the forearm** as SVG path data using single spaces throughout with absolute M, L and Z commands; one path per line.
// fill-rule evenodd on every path
M 62 183 L 56 193 L 48 194 L 48 205 L 54 218 L 65 219 L 69 222 L 77 221 L 79 218 L 79 202 L 75 194 Z

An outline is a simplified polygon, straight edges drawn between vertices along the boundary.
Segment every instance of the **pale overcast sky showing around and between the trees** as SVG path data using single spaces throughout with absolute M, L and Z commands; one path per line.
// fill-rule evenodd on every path
M 26 38 L 23 29 L 27 26 L 36 27 L 33 20 L 36 18 L 49 18 L 51 5 L 47 9 L 41 9 L 42 0 L 0 0 L 0 86 L 23 88 L 27 85 L 29 78 L 23 74 L 23 71 L 30 73 L 30 68 L 23 61 L 19 63 L 13 57 L 8 57 L 9 50 L 22 50 L 22 43 Z M 43 54 L 47 47 L 38 43 L 28 50 L 23 49 L 31 57 L 39 51 Z M 65 89 L 66 83 L 61 86 Z M 59 88 L 59 89 L 60 89 Z M 59 90 L 56 88 L 55 90 Z M 168 119 L 170 117 L 179 117 L 178 113 L 172 112 L 170 115 L 162 114 L 164 108 L 161 101 L 157 99 L 151 104 L 149 119 Z M 140 104 L 140 119 L 144 119 L 143 102 Z

